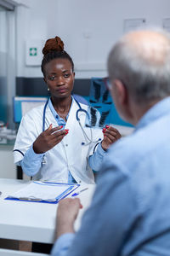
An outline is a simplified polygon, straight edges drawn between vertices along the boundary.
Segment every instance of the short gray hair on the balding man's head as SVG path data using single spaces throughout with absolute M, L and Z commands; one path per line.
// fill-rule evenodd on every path
M 147 51 L 144 52 L 144 47 L 140 47 L 140 41 L 131 44 L 129 35 L 135 32 L 128 33 L 118 41 L 108 57 L 110 79 L 121 80 L 133 100 L 139 103 L 170 95 L 170 35 L 162 29 L 147 31 L 156 32 L 164 40 L 165 44 L 158 43 L 158 58 L 156 48 L 152 51 L 152 43 L 147 47 L 149 55 Z

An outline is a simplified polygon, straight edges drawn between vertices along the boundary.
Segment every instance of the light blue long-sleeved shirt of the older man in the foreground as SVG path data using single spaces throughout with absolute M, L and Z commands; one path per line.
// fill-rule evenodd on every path
M 109 149 L 82 227 L 55 243 L 56 256 L 170 255 L 170 98 Z

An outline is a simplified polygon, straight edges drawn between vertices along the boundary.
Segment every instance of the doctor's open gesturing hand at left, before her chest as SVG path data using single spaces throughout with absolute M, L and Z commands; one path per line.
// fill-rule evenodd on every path
M 37 137 L 36 141 L 33 143 L 34 152 L 37 154 L 42 154 L 48 151 L 51 148 L 54 148 L 55 145 L 60 143 L 68 134 L 68 129 L 59 131 L 63 126 L 57 126 L 52 128 L 52 125 L 49 125 L 48 129 L 42 131 L 42 133 Z

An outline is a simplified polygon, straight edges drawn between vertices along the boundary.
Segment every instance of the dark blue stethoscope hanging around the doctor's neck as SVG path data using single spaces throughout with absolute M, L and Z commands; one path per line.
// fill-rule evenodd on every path
M 75 102 L 77 102 L 76 99 L 74 99 Z M 46 114 L 46 108 L 48 107 L 48 102 L 49 102 L 49 99 L 47 100 L 47 102 L 45 103 L 45 106 L 43 108 L 43 116 L 42 116 L 42 131 L 45 131 L 45 114 Z M 90 143 L 99 143 L 101 141 L 101 138 L 99 138 L 98 140 L 96 141 L 93 141 L 93 134 L 92 134 L 92 129 L 90 128 L 90 138 L 88 137 L 86 131 L 84 130 L 84 128 L 82 127 L 82 124 L 81 124 L 81 121 L 80 121 L 80 118 L 79 118 L 79 113 L 83 112 L 86 114 L 86 116 L 88 117 L 88 120 L 90 120 L 90 115 L 88 113 L 87 110 L 83 109 L 80 105 L 79 102 L 77 102 L 77 105 L 78 105 L 78 108 L 77 109 L 77 113 L 76 113 L 76 118 L 77 118 L 77 122 L 78 124 L 80 125 L 81 129 L 82 129 L 82 134 L 83 136 L 86 138 L 86 140 L 88 141 L 88 143 L 82 143 L 82 145 L 89 145 Z M 97 146 L 97 145 L 96 145 Z

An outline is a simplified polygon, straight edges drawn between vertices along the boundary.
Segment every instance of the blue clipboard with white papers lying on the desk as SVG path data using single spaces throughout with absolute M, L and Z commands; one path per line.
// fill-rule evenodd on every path
M 5 200 L 58 203 L 71 194 L 80 184 L 33 181 L 25 188 L 8 195 Z

